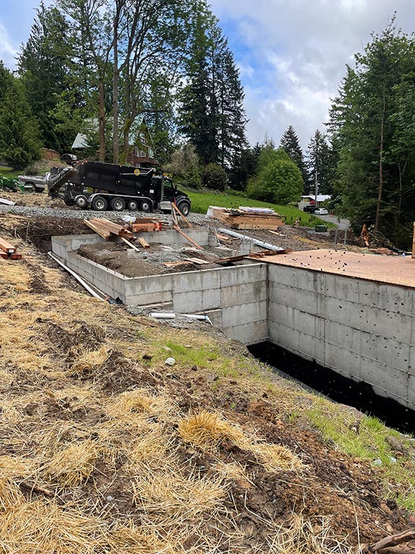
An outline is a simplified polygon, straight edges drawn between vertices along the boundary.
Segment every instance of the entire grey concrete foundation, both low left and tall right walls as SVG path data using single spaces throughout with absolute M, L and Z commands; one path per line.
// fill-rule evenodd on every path
M 187 231 L 202 246 L 208 230 Z M 146 233 L 148 242 L 183 242 L 178 233 Z M 98 235 L 54 237 L 68 267 L 127 305 L 158 304 L 208 313 L 228 337 L 266 341 L 311 359 L 415 409 L 414 289 L 286 265 L 238 267 L 127 278 L 74 250 Z

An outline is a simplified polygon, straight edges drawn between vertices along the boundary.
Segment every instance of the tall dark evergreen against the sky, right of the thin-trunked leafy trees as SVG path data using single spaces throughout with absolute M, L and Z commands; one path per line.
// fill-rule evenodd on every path
M 220 163 L 228 173 L 232 168 L 239 171 L 246 148 L 239 71 L 216 17 L 203 2 L 199 2 L 192 27 L 179 127 L 194 143 L 204 165 Z

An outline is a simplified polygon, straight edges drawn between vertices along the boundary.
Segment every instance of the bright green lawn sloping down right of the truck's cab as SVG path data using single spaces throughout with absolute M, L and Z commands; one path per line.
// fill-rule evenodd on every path
M 185 189 L 182 185 L 179 188 Z M 327 223 L 320 220 L 313 214 L 304 213 L 302 210 L 294 206 L 279 206 L 270 202 L 261 202 L 261 200 L 253 200 L 250 198 L 241 197 L 232 193 L 214 193 L 211 191 L 195 191 L 192 188 L 186 189 L 187 194 L 192 199 L 192 211 L 196 213 L 206 213 L 209 206 L 220 206 L 221 208 L 239 208 L 239 206 L 255 206 L 257 208 L 272 208 L 277 213 L 286 216 L 286 223 L 293 224 L 295 220 L 299 220 L 301 226 L 313 227 L 315 225 L 327 225 L 335 227 L 333 223 Z

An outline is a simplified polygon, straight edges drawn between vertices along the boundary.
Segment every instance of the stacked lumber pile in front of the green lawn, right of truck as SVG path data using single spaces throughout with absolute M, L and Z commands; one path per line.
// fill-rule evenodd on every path
M 254 211 L 255 208 L 218 208 L 210 206 L 208 215 L 219 220 L 232 229 L 277 229 L 285 224 L 285 216 L 275 211 Z

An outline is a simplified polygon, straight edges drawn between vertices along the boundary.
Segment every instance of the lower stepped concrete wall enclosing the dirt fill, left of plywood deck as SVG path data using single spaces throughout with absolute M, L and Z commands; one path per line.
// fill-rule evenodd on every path
M 207 244 L 208 231 L 187 230 L 193 240 Z M 157 233 L 140 233 L 148 242 L 175 244 L 182 239 L 176 232 L 166 231 L 167 237 Z M 178 242 L 183 242 L 182 240 Z M 183 239 L 185 240 L 185 239 Z M 53 252 L 73 271 L 102 292 L 120 298 L 127 305 L 158 304 L 164 310 L 178 313 L 207 313 L 214 325 L 232 339 L 247 344 L 266 341 L 267 287 L 264 264 L 241 265 L 186 271 L 149 277 L 125 277 L 74 251 L 82 244 L 102 242 L 98 235 L 69 235 L 53 237 Z M 188 244 L 188 243 L 187 243 Z

